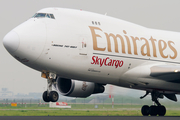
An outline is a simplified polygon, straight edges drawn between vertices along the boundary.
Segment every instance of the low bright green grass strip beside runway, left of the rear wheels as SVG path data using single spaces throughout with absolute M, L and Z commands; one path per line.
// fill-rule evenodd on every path
M 0 116 L 141 116 L 140 111 L 8 110 Z

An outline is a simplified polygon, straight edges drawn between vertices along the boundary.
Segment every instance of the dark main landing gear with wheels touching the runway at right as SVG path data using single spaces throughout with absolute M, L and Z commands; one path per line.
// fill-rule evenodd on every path
M 141 99 L 143 99 L 144 97 L 146 97 L 149 94 L 149 92 L 147 91 L 146 94 L 142 97 L 140 97 Z M 141 113 L 143 116 L 164 116 L 166 114 L 166 108 L 161 105 L 158 101 L 158 98 L 163 98 L 163 95 L 160 94 L 157 91 L 153 91 L 151 92 L 151 97 L 152 97 L 152 101 L 153 103 L 156 103 L 157 106 L 152 105 L 152 106 L 148 106 L 148 105 L 144 105 L 141 108 Z

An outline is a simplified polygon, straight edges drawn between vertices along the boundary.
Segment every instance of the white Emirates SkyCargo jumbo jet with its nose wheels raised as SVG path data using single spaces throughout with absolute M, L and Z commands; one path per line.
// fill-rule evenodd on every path
M 103 93 L 107 84 L 143 90 L 152 106 L 143 116 L 164 116 L 167 97 L 180 93 L 180 33 L 156 30 L 107 15 L 44 8 L 3 38 L 6 50 L 47 79 L 45 102 Z M 52 90 L 52 87 L 56 91 Z

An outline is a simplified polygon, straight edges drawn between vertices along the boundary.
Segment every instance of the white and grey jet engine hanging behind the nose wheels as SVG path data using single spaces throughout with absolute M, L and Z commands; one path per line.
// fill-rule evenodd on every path
M 65 78 L 57 78 L 55 88 L 64 96 L 85 98 L 91 94 L 103 93 L 104 86 Z

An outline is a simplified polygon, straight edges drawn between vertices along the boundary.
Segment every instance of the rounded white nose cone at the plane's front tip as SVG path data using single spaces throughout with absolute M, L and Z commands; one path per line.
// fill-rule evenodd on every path
M 19 36 L 16 32 L 11 31 L 3 39 L 3 45 L 9 53 L 15 52 L 19 47 Z

